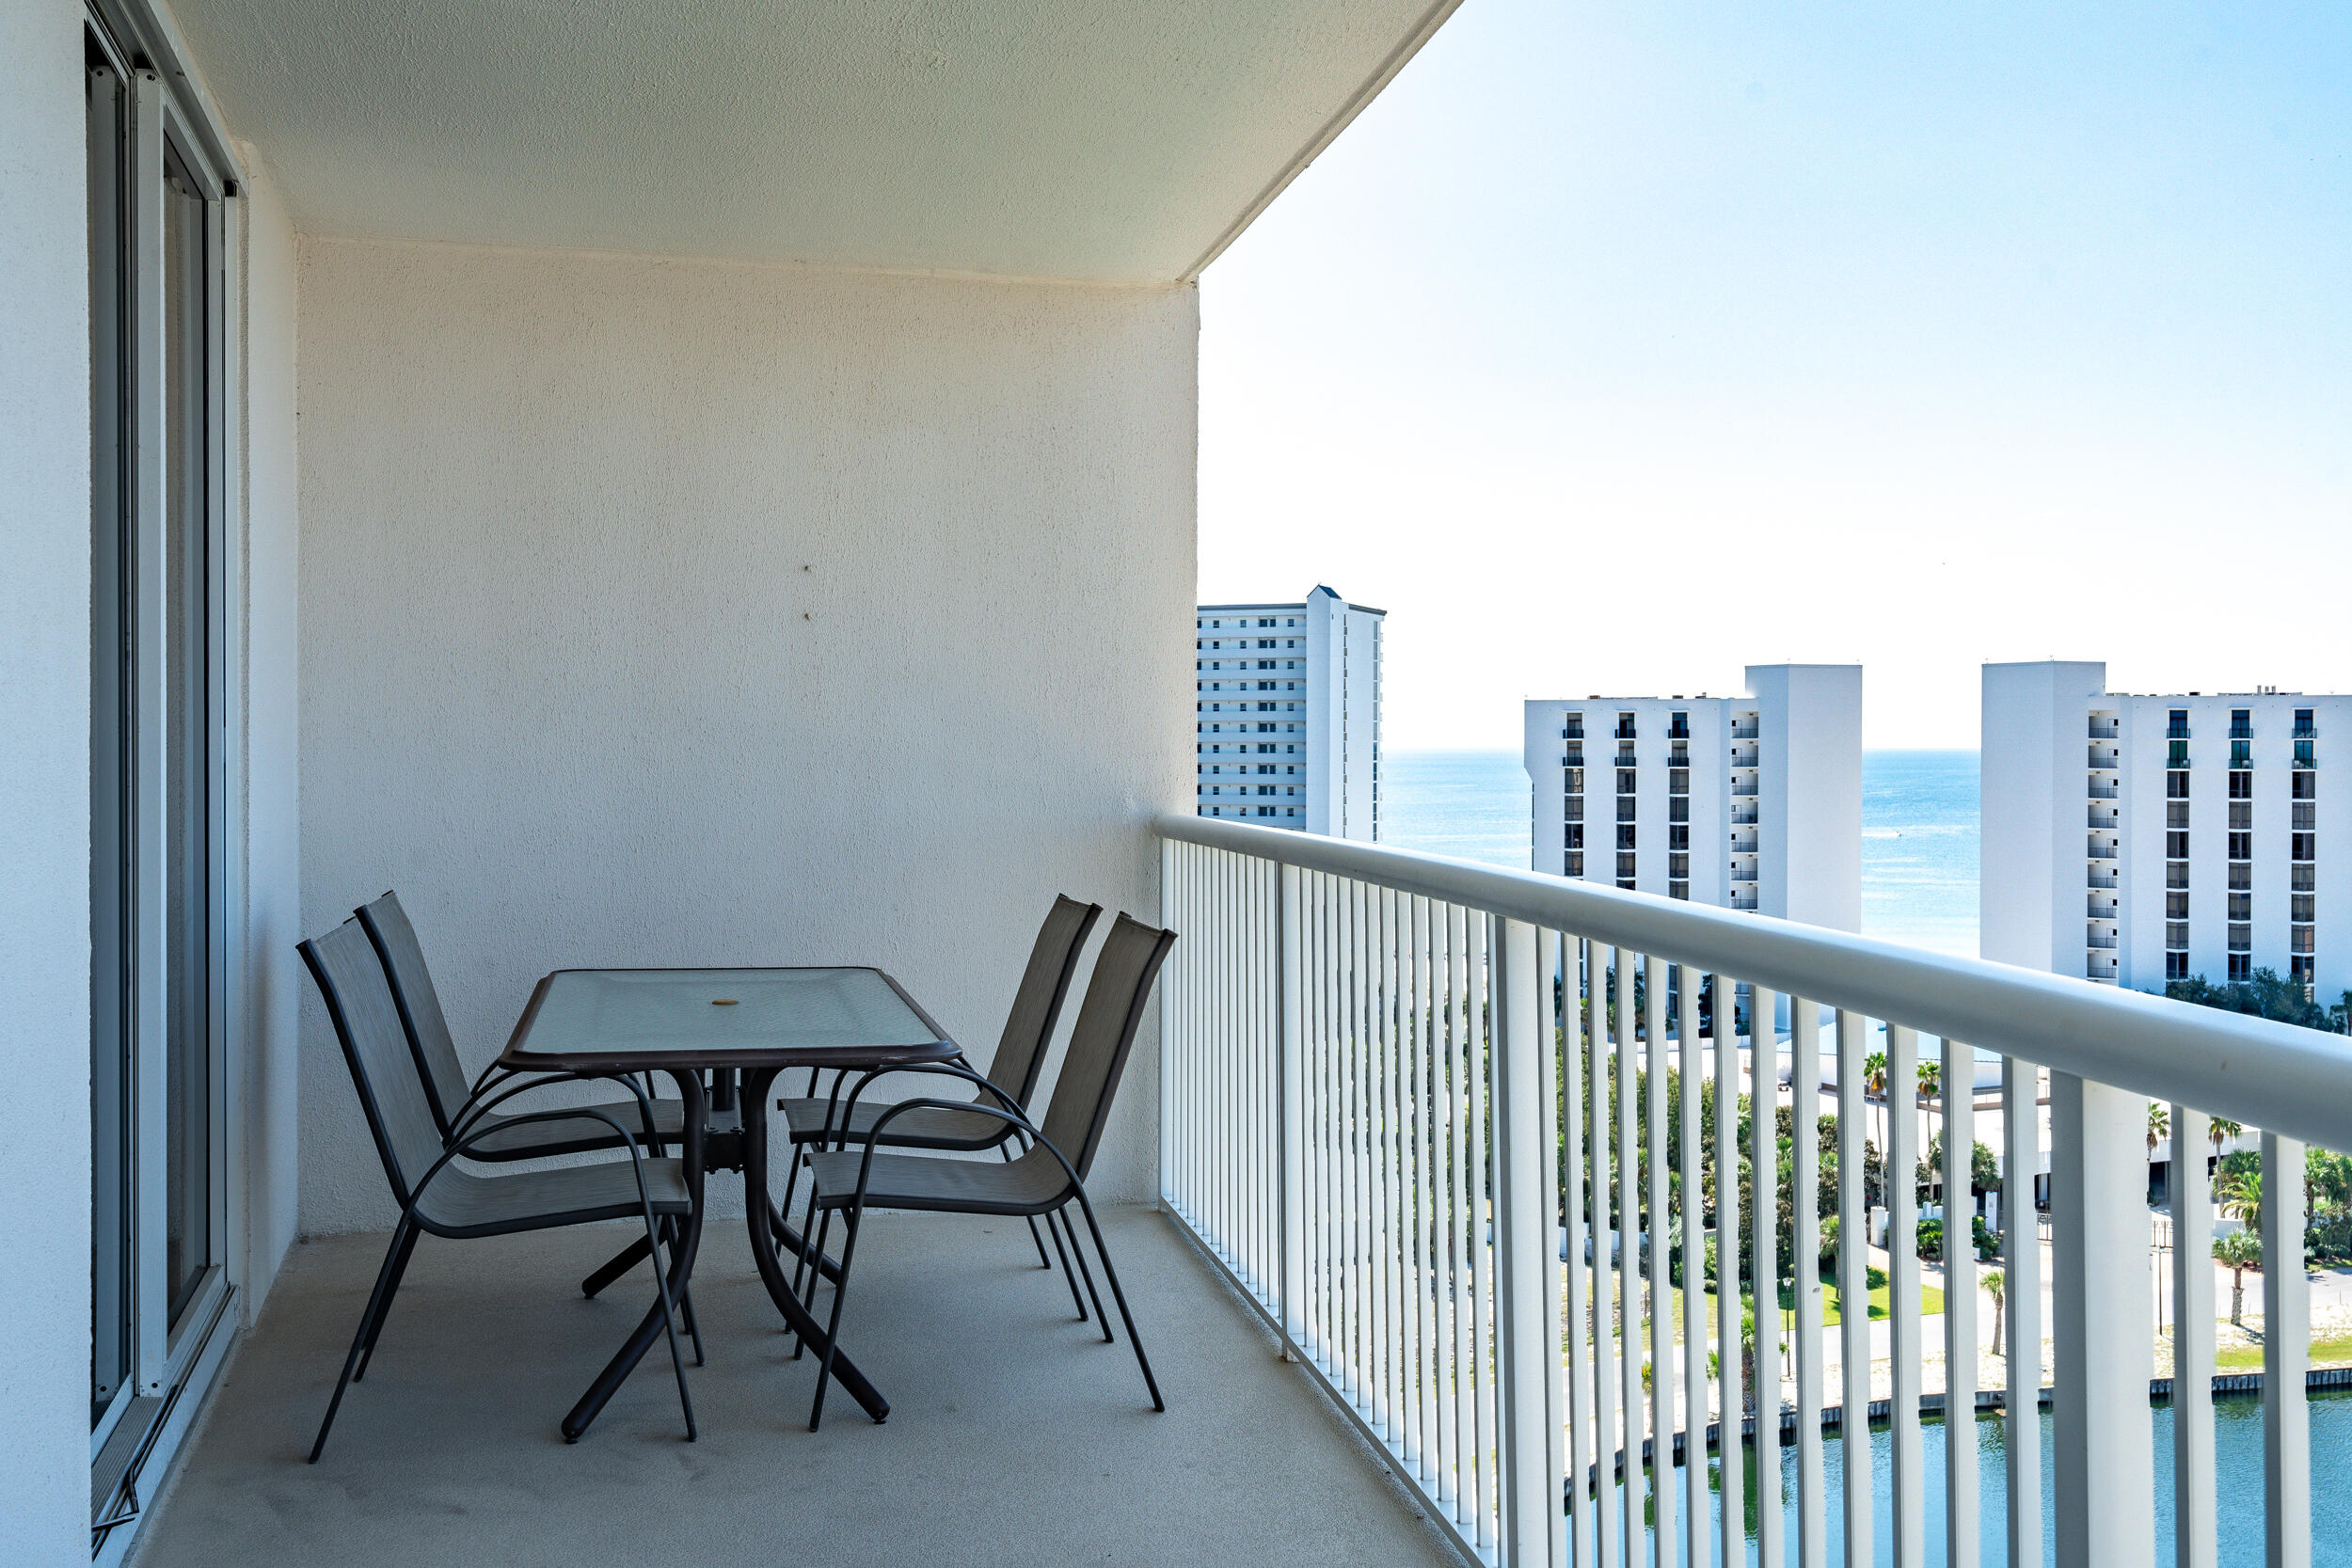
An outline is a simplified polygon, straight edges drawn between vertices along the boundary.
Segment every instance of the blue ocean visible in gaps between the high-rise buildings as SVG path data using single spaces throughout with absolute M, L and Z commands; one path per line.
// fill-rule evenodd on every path
M 1863 936 L 1976 957 L 1976 752 L 1863 752 Z M 1388 752 L 1381 839 L 1526 867 L 1519 752 Z

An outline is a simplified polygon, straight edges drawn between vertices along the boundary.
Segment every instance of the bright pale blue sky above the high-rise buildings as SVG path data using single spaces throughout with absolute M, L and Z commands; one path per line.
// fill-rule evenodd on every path
M 2352 7 L 1468 0 L 1202 277 L 1200 567 L 1388 609 L 1399 748 L 2352 689 Z

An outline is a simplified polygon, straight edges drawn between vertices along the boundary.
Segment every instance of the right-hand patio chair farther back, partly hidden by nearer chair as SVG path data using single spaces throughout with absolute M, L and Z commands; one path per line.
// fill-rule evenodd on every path
M 1094 931 L 1094 922 L 1103 917 L 1103 905 L 1080 903 L 1068 896 L 1056 896 L 1054 907 L 1047 910 L 1044 924 L 1037 929 L 1037 940 L 1030 945 L 1028 969 L 1021 971 L 1021 987 L 1014 992 L 1011 1013 L 1004 1018 L 1004 1034 L 997 1037 L 997 1053 L 988 1063 L 988 1084 L 981 1088 L 981 1098 L 990 1103 L 1011 1105 L 1021 1114 L 1028 1114 L 1028 1100 L 1037 1091 L 1037 1072 L 1044 1067 L 1047 1046 L 1054 1039 L 1054 1025 L 1061 1023 L 1061 1006 L 1070 997 L 1070 978 L 1077 973 L 1077 957 L 1087 947 L 1087 936 Z M 971 1067 L 969 1060 L 964 1067 Z M 884 1070 L 887 1072 L 887 1070 Z M 866 1088 L 882 1072 L 866 1074 L 858 1081 L 858 1091 Z M 816 1070 L 809 1070 L 809 1088 L 816 1088 Z M 786 1128 L 793 1138 L 795 1159 L 790 1161 L 790 1175 L 783 1187 L 783 1206 L 779 1220 L 793 1213 L 793 1194 L 800 1187 L 800 1159 L 797 1154 L 807 1145 L 863 1145 L 875 1140 L 875 1124 L 889 1110 L 887 1105 L 861 1100 L 854 1091 L 847 1100 L 842 1098 L 842 1074 L 833 1077 L 833 1093 L 816 1098 L 814 1093 L 800 1100 L 776 1100 L 776 1110 L 783 1112 Z M 957 1105 L 950 1110 L 924 1110 L 898 1117 L 891 1121 L 889 1131 L 882 1133 L 882 1147 L 891 1150 L 955 1150 L 967 1154 L 978 1154 L 985 1150 L 1002 1150 L 1011 1159 L 1011 1145 L 1018 1138 L 1018 1128 L 1011 1124 L 976 1112 L 969 1105 Z M 1047 1220 L 1051 1227 L 1051 1218 Z M 1037 1220 L 1028 1220 L 1030 1241 L 1037 1246 L 1037 1265 L 1054 1267 L 1044 1255 L 1044 1241 L 1037 1237 Z M 779 1222 L 776 1234 L 783 1234 Z M 1077 1239 L 1070 1239 L 1077 1246 Z M 1061 1253 L 1061 1232 L 1054 1232 L 1054 1251 Z M 1063 1255 L 1063 1272 L 1068 1274 L 1070 1260 Z M 833 1269 L 826 1269 L 833 1274 Z M 800 1288 L 800 1279 L 793 1281 Z M 1077 1300 L 1077 1281 L 1070 1281 L 1070 1300 Z M 1084 1316 L 1084 1302 L 1080 1302 L 1080 1316 Z

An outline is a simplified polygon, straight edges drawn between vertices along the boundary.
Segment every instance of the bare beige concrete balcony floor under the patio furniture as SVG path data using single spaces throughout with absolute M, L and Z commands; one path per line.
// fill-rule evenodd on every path
M 426 1239 L 367 1382 L 306 1465 L 383 1237 L 296 1246 L 148 1521 L 143 1568 L 400 1563 L 1456 1563 L 1374 1450 L 1150 1211 L 1103 1215 L 1167 1415 L 1124 1333 L 1080 1326 L 1018 1220 L 882 1213 L 842 1345 L 891 1399 L 840 1389 L 809 1434 L 746 1253 L 713 1220 L 687 1443 L 656 1349 L 567 1446 L 557 1420 L 652 1293 L 579 1279 L 628 1232 Z M 1105 1291 L 1108 1298 L 1108 1291 Z

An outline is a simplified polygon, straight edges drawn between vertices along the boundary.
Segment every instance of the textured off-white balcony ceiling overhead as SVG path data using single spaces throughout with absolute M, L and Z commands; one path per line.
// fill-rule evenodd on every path
M 1188 277 L 1458 0 L 176 0 L 296 228 Z

